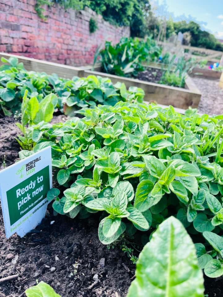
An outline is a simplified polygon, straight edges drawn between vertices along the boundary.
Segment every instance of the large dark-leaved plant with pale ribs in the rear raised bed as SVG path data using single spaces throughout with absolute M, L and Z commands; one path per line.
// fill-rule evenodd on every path
M 115 46 L 106 41 L 105 49 L 101 50 L 99 55 L 104 72 L 132 76 L 144 70 L 142 61 L 153 61 L 160 53 L 160 47 L 151 38 L 140 41 L 138 38 L 123 37 Z

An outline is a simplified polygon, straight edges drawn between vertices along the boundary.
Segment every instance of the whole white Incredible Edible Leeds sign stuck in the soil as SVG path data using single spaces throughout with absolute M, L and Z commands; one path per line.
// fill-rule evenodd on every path
M 6 237 L 23 237 L 45 217 L 52 187 L 51 147 L 0 171 L 0 196 Z

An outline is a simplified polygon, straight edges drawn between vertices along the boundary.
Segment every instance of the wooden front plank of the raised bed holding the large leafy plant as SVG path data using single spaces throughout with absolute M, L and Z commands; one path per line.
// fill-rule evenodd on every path
M 188 109 L 189 106 L 197 108 L 201 97 L 201 93 L 198 89 L 191 91 L 190 89 L 175 88 L 90 70 L 86 70 L 84 75 L 85 77 L 88 75 L 108 77 L 113 84 L 123 82 L 127 88 L 130 86 L 142 88 L 145 91 L 146 101 L 156 101 L 158 104 L 173 105 L 181 109 Z

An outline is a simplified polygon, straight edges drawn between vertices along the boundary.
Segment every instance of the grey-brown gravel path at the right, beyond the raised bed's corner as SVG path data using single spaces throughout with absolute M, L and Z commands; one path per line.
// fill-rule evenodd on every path
M 198 110 L 205 114 L 223 114 L 223 89 L 218 86 L 219 80 L 193 78 L 202 96 Z

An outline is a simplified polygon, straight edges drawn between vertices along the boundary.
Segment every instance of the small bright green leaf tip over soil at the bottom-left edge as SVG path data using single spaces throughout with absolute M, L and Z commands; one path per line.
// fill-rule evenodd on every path
M 45 282 L 39 282 L 36 286 L 28 288 L 25 294 L 27 297 L 61 297 Z

